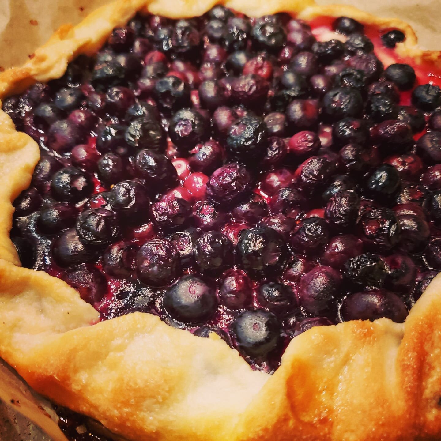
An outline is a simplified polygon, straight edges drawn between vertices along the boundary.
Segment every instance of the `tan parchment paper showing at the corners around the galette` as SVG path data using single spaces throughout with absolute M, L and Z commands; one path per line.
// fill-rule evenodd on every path
M 0 0 L 0 69 L 22 64 L 62 24 L 76 24 L 111 0 Z M 441 50 L 440 0 L 316 0 L 350 4 L 410 23 L 423 49 Z M 32 422 L 0 400 L 0 441 L 50 441 Z

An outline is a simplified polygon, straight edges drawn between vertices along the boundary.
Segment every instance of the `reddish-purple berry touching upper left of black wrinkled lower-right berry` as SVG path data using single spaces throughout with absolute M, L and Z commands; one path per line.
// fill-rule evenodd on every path
M 329 240 L 320 258 L 322 265 L 341 269 L 344 263 L 363 252 L 363 242 L 355 235 L 340 234 Z

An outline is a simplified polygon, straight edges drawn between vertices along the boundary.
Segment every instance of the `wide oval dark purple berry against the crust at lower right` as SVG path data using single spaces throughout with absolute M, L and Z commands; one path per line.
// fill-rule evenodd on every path
M 380 289 L 349 295 L 343 300 L 340 314 L 344 321 L 374 321 L 385 317 L 396 323 L 403 323 L 407 309 L 398 295 Z

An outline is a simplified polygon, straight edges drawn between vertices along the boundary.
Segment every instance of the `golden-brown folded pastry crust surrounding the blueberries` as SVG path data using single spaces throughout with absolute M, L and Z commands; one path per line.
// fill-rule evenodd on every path
M 118 0 L 78 26 L 63 26 L 22 67 L 0 74 L 0 98 L 59 78 L 136 11 L 202 15 L 215 0 Z M 415 63 L 410 26 L 313 0 L 229 0 L 260 16 L 348 15 L 398 28 Z M 272 376 L 253 371 L 219 338 L 202 339 L 150 314 L 98 322 L 62 280 L 20 268 L 9 231 L 12 201 L 30 184 L 37 144 L 0 111 L 0 355 L 37 392 L 130 440 L 411 441 L 441 436 L 441 276 L 404 324 L 380 319 L 310 329 L 289 344 Z M 62 437 L 54 434 L 55 441 Z

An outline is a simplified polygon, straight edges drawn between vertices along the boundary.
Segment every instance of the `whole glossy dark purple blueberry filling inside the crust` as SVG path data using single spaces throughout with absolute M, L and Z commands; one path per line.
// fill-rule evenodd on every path
M 136 16 L 7 98 L 41 160 L 22 264 L 272 373 L 313 326 L 403 322 L 441 271 L 439 72 L 347 17 Z M 70 434 L 75 438 L 74 434 Z

